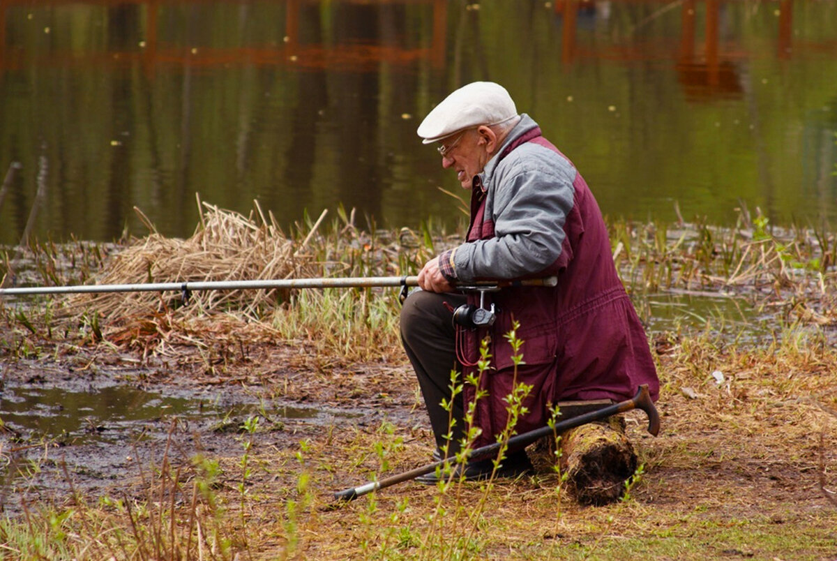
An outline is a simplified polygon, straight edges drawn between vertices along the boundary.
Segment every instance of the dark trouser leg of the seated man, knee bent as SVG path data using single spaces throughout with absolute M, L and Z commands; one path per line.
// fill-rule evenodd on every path
M 401 310 L 401 341 L 419 378 L 419 388 L 436 445 L 439 450 L 447 447 L 448 455 L 454 455 L 460 449 L 465 434 L 462 394 L 454 398 L 450 412 L 441 405 L 443 399 L 450 401 L 451 370 L 456 370 L 458 383 L 462 383 L 462 367 L 456 360 L 456 331 L 451 311 L 462 304 L 465 304 L 465 295 L 462 294 L 414 291 L 404 301 Z M 451 414 L 453 427 L 450 427 Z M 444 436 L 449 431 L 451 440 L 448 446 Z

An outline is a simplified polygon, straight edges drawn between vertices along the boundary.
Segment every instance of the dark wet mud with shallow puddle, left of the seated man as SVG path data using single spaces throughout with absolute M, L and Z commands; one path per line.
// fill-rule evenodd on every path
M 54 381 L 53 381 L 54 382 Z M 237 456 L 245 421 L 257 446 L 294 445 L 375 413 L 259 399 L 241 389 L 137 388 L 126 383 L 31 383 L 0 389 L 0 512 L 72 490 L 110 493 L 164 454 Z M 171 450 L 171 451 L 169 451 Z

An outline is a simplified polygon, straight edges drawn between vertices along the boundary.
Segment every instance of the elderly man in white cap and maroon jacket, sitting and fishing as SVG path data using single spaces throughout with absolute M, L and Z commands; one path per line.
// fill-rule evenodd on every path
M 501 85 L 475 82 L 455 90 L 419 126 L 424 143 L 439 142 L 442 166 L 470 189 L 465 243 L 419 271 L 421 291 L 404 301 L 401 336 L 419 378 L 439 455 L 452 457 L 466 434 L 465 404 L 475 402 L 473 445 L 489 445 L 506 427 L 506 396 L 515 383 L 531 386 L 517 433 L 547 424 L 559 400 L 632 397 L 659 382 L 648 341 L 616 274 L 608 232 L 593 193 L 567 157 L 541 135 L 531 117 L 518 115 Z M 557 286 L 511 286 L 490 293 L 492 325 L 453 321 L 475 294 L 458 283 L 557 276 Z M 523 363 L 504 335 L 519 322 Z M 477 373 L 480 341 L 487 337 L 491 368 L 480 378 L 486 396 L 465 383 L 451 399 L 451 373 Z M 482 394 L 482 392 L 480 392 Z M 447 404 L 447 405 L 446 405 Z M 499 476 L 526 472 L 524 450 L 511 450 Z M 490 475 L 491 461 L 470 461 L 466 479 Z M 425 483 L 435 476 L 419 478 Z

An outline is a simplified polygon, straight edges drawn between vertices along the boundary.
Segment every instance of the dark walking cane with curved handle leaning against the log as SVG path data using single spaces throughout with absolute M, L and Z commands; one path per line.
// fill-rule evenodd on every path
M 606 419 L 610 415 L 614 415 L 617 413 L 625 413 L 626 411 L 630 411 L 631 409 L 642 409 L 645 412 L 645 414 L 648 415 L 648 432 L 655 436 L 658 432 L 660 432 L 660 415 L 657 414 L 657 409 L 654 406 L 654 402 L 651 400 L 651 394 L 648 391 L 648 384 L 644 383 L 641 386 L 639 386 L 639 389 L 637 390 L 636 394 L 631 399 L 627 399 L 618 404 L 608 405 L 603 409 L 598 409 L 596 411 L 590 411 L 589 413 L 580 414 L 578 415 L 578 417 L 573 417 L 571 419 L 561 421 L 559 423 L 556 423 L 554 426 L 545 426 L 541 427 L 540 429 L 531 430 L 529 432 L 523 433 L 522 435 L 512 436 L 506 442 L 506 446 L 510 450 L 522 449 L 525 448 L 526 445 L 529 445 L 535 440 L 538 440 L 544 436 L 557 434 L 563 432 L 564 430 L 574 429 L 577 426 L 586 425 L 588 423 L 592 423 L 593 421 L 601 419 Z M 482 446 L 480 448 L 475 448 L 474 450 L 470 450 L 468 452 L 466 459 L 476 460 L 480 458 L 485 458 L 490 455 L 496 455 L 496 453 L 500 451 L 502 445 L 503 443 L 496 442 L 494 444 Z M 337 501 L 353 501 L 357 497 L 360 497 L 361 495 L 366 495 L 369 492 L 378 491 L 379 489 L 383 489 L 384 487 L 393 486 L 396 483 L 409 481 L 411 479 L 415 479 L 418 476 L 423 476 L 425 473 L 435 471 L 437 467 L 444 466 L 444 464 L 449 463 L 449 461 L 450 460 L 434 461 L 432 464 L 417 467 L 413 470 L 405 471 L 404 473 L 400 473 L 398 475 L 384 477 L 381 481 L 370 481 L 361 486 L 352 487 L 343 491 L 338 491 L 334 493 L 334 498 Z

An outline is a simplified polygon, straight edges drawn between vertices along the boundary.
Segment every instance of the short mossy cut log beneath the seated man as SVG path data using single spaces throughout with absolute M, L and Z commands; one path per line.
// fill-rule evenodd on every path
M 564 412 L 561 420 L 575 416 L 559 406 Z M 567 491 L 576 501 L 601 506 L 622 497 L 625 481 L 634 475 L 637 466 L 622 415 L 567 430 L 561 434 L 560 444 L 561 472 L 567 476 Z M 527 450 L 536 471 L 555 471 L 555 450 L 553 437 L 539 440 Z

